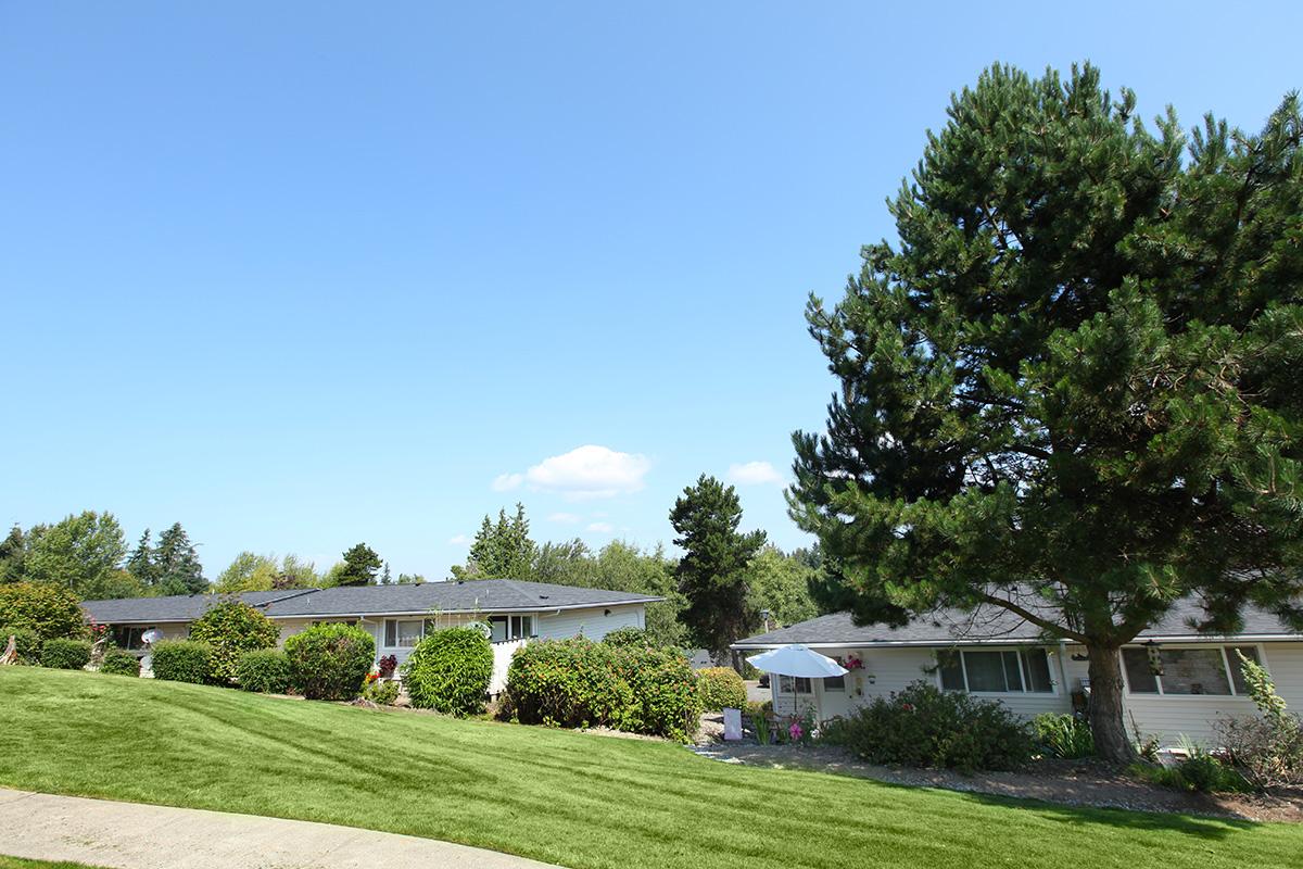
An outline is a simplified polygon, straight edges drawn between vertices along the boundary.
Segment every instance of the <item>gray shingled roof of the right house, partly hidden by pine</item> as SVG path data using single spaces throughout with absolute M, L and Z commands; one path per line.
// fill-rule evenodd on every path
M 1141 631 L 1141 638 L 1208 640 L 1190 627 L 1200 616 L 1195 599 L 1187 598 L 1171 607 L 1158 624 Z M 1244 629 L 1237 636 L 1303 638 L 1270 612 L 1257 607 L 1243 611 Z M 739 640 L 735 649 L 761 649 L 790 642 L 830 646 L 933 646 L 979 642 L 1035 642 L 1042 638 L 1040 628 L 1014 615 L 1009 610 L 982 607 L 973 614 L 960 610 L 939 610 L 919 618 L 902 628 L 885 624 L 856 625 L 850 612 L 822 615 L 787 628 L 770 631 Z

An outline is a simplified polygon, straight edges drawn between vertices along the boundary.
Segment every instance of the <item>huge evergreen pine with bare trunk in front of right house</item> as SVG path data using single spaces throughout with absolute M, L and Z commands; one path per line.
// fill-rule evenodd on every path
M 1298 100 L 1259 135 L 1134 109 L 1091 66 L 952 98 L 899 245 L 809 302 L 840 388 L 790 496 L 857 620 L 1002 607 L 1083 644 L 1117 761 L 1118 649 L 1173 602 L 1303 625 Z

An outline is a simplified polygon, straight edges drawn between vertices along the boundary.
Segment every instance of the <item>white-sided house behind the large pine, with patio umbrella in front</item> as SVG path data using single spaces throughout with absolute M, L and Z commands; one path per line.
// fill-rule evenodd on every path
M 1220 717 L 1256 713 L 1237 650 L 1265 667 L 1281 697 L 1303 711 L 1303 634 L 1248 607 L 1239 633 L 1209 636 L 1190 627 L 1199 615 L 1192 601 L 1181 602 L 1121 650 L 1128 730 L 1157 736 L 1164 745 L 1182 736 L 1216 744 Z M 900 628 L 861 627 L 838 612 L 747 637 L 732 648 L 754 654 L 788 644 L 835 658 L 850 672 L 835 679 L 771 675 L 774 710 L 780 714 L 814 707 L 823 718 L 846 715 L 920 679 L 998 700 L 1027 718 L 1074 711 L 1089 692 L 1083 646 L 1046 641 L 1038 627 L 997 607 L 942 610 Z

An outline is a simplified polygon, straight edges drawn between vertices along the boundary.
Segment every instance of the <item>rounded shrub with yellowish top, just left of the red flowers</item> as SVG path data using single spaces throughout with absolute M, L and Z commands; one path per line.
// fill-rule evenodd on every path
M 285 640 L 291 684 L 309 700 L 353 700 L 375 663 L 375 640 L 362 628 L 318 624 Z

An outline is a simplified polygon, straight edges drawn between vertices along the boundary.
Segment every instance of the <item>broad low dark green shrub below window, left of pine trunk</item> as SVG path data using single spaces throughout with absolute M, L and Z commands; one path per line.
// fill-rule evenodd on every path
M 1001 704 L 925 681 L 876 697 L 839 731 L 843 744 L 870 763 L 963 773 L 1016 769 L 1035 748 L 1031 727 Z

